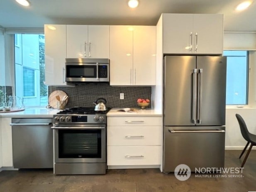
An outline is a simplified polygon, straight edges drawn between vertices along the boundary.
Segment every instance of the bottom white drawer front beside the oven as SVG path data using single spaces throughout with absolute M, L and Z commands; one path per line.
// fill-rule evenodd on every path
M 107 146 L 107 165 L 160 165 L 161 146 Z

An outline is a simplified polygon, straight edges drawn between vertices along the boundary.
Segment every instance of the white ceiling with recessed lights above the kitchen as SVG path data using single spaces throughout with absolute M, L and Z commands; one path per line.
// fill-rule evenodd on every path
M 44 27 L 44 24 L 156 25 L 161 13 L 222 13 L 225 31 L 256 31 L 256 2 L 243 12 L 241 0 L 30 0 L 23 7 L 15 0 L 0 0 L 0 26 Z

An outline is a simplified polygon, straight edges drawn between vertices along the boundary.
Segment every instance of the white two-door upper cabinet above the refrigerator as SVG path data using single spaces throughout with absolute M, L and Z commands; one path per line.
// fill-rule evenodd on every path
M 163 14 L 163 53 L 222 54 L 223 15 Z

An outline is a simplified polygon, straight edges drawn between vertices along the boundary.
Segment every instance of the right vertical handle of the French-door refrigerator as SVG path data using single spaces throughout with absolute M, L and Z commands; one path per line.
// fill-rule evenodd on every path
M 197 79 L 197 123 L 202 124 L 201 111 L 202 111 L 202 69 L 198 69 Z

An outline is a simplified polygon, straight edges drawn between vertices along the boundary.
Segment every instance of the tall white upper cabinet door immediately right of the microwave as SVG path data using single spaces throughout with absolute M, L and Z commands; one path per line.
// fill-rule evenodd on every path
M 110 85 L 132 85 L 132 26 L 110 26 Z

